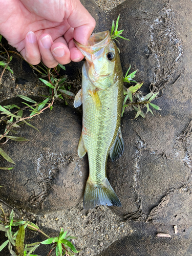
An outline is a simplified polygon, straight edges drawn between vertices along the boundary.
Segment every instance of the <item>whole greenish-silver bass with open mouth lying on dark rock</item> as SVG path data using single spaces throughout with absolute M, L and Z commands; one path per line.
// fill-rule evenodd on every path
M 86 58 L 82 67 L 82 86 L 74 99 L 74 107 L 82 104 L 83 111 L 77 152 L 80 158 L 88 153 L 89 160 L 83 207 L 121 206 L 106 177 L 108 156 L 115 161 L 124 151 L 120 127 L 123 73 L 118 49 L 109 31 L 93 33 L 87 46 L 74 42 Z

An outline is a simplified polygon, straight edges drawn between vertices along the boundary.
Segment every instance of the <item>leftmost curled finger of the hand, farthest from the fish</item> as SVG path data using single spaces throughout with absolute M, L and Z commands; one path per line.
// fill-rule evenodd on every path
M 25 37 L 25 48 L 20 51 L 25 60 L 32 65 L 40 62 L 40 51 L 36 35 L 30 31 Z

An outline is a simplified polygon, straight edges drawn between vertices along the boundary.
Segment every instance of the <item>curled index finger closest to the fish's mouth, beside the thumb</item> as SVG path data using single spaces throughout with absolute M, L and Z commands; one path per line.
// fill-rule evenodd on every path
M 69 28 L 68 31 L 65 33 L 64 37 L 66 41 L 68 42 L 68 46 L 70 49 L 70 59 L 77 62 L 84 58 L 82 53 L 75 47 L 74 41 L 73 41 L 73 28 Z

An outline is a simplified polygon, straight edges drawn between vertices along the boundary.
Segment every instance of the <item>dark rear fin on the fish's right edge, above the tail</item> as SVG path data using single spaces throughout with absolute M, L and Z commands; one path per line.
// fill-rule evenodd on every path
M 123 151 L 124 151 L 124 142 L 121 135 L 121 127 L 119 127 L 115 142 L 110 149 L 111 160 L 116 161 L 120 156 L 122 156 Z

